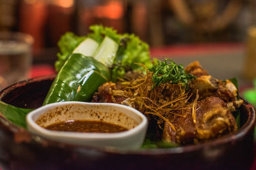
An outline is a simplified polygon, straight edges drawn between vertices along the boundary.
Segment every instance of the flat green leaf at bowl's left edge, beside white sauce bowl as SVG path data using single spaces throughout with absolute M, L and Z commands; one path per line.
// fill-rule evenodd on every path
M 26 115 L 33 109 L 24 109 L 0 101 L 0 112 L 15 125 L 26 128 Z

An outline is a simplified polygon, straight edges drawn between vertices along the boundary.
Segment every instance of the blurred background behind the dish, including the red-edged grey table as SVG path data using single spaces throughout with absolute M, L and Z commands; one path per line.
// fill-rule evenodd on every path
M 92 24 L 134 32 L 152 57 L 199 60 L 212 76 L 253 87 L 255 0 L 0 0 L 0 31 L 35 39 L 30 77 L 54 73 L 60 36 L 86 35 Z

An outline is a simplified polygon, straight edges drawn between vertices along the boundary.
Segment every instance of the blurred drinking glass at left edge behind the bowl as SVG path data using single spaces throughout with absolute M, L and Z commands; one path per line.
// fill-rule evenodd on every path
M 33 42 L 29 34 L 0 32 L 0 90 L 28 78 Z

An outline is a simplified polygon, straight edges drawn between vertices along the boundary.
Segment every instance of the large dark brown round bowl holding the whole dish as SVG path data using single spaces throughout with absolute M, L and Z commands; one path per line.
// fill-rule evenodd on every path
M 0 100 L 38 108 L 52 76 L 22 81 L 0 92 Z M 124 152 L 67 145 L 30 134 L 0 116 L 0 167 L 3 169 L 250 169 L 253 162 L 255 110 L 244 101 L 235 134 L 199 145 Z

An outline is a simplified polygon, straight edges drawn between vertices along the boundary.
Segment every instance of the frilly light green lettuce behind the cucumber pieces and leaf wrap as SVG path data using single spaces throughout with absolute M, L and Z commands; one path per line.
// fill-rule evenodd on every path
M 90 26 L 92 33 L 88 34 L 88 38 L 92 38 L 99 45 L 103 39 L 108 36 L 118 45 L 115 60 L 111 69 L 111 81 L 116 81 L 118 77 L 122 78 L 127 70 L 145 71 L 144 67 L 136 64 L 144 64 L 148 68 L 152 67 L 150 61 L 149 47 L 147 43 L 141 41 L 138 36 L 134 34 L 118 34 L 117 31 L 111 27 L 104 27 L 102 25 Z M 58 53 L 58 61 L 55 63 L 56 71 L 60 71 L 68 55 L 78 46 L 85 38 L 74 35 L 72 32 L 67 32 L 61 36 L 58 46 L 60 53 Z

